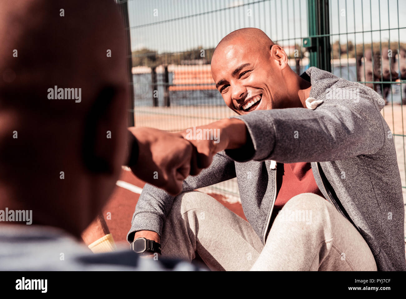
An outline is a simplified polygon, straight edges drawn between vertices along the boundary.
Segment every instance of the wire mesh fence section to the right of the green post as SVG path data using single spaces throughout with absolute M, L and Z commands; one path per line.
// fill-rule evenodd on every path
M 398 0 L 329 1 L 331 70 L 378 92 L 393 135 L 405 185 L 406 3 Z

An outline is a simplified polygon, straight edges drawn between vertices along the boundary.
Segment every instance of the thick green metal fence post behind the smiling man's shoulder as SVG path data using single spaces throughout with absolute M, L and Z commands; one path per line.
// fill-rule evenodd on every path
M 307 11 L 309 37 L 303 47 L 309 51 L 309 66 L 331 72 L 328 0 L 307 0 Z

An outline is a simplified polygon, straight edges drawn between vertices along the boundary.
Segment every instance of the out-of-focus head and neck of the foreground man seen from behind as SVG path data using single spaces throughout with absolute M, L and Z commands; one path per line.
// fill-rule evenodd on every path
M 125 160 L 127 45 L 118 7 L 4 1 L 0 40 L 0 206 L 32 210 L 34 224 L 80 236 Z

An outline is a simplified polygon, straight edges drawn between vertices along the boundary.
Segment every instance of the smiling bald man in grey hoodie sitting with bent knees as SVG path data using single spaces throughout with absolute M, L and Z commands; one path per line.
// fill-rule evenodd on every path
M 176 197 L 145 185 L 127 240 L 212 270 L 406 270 L 402 183 L 384 100 L 311 67 L 298 76 L 257 28 L 224 37 L 212 76 L 239 116 L 190 140 L 213 155 Z M 188 138 L 186 132 L 182 132 Z M 237 177 L 246 222 L 194 192 Z

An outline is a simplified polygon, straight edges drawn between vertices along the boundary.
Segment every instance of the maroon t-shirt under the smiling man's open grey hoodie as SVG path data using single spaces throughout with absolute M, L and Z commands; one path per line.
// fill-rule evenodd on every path
M 283 205 L 293 196 L 301 193 L 314 193 L 324 198 L 317 187 L 309 162 L 278 163 L 276 167 L 277 193 L 270 225 Z

